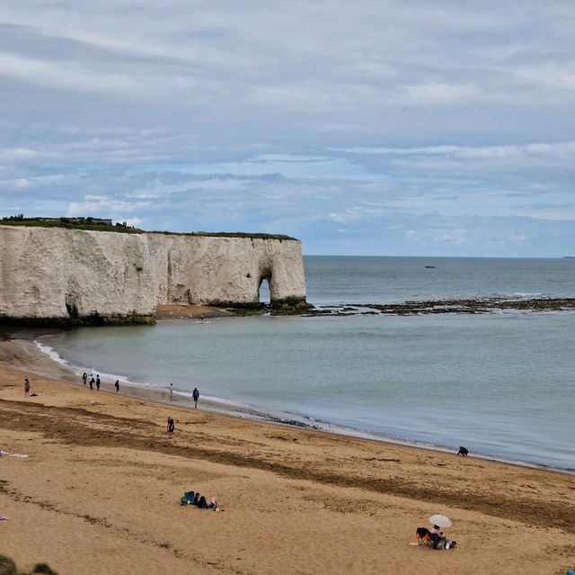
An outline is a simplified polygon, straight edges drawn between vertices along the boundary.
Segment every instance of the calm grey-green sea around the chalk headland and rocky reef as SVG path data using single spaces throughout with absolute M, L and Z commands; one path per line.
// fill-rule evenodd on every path
M 318 308 L 575 296 L 575 259 L 305 256 Z M 261 292 L 261 300 L 269 292 Z M 335 433 L 575 472 L 575 312 L 163 320 L 38 337 L 78 373 Z M 255 414 L 255 415 L 254 415 Z

